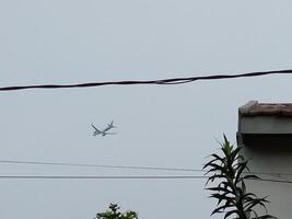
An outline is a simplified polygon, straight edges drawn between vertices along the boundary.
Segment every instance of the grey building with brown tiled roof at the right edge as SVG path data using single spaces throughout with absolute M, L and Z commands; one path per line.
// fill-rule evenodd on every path
M 267 181 L 248 181 L 247 188 L 265 197 L 270 215 L 292 218 L 292 104 L 250 101 L 238 108 L 237 145 L 250 159 L 250 172 Z M 290 183 L 291 182 L 291 183 Z

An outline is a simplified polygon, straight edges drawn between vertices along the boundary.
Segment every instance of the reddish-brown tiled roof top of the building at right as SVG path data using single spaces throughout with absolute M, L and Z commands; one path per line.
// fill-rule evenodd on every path
M 258 103 L 257 101 L 249 101 L 240 107 L 240 115 L 292 117 L 292 103 Z

